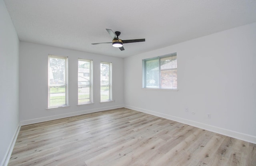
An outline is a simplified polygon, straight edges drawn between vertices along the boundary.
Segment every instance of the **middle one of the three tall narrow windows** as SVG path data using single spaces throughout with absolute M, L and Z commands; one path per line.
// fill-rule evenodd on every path
M 92 103 L 92 60 L 78 59 L 78 105 Z

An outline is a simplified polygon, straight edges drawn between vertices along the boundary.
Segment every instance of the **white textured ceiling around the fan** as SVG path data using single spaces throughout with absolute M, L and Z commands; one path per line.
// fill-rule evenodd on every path
M 21 41 L 128 57 L 256 22 L 256 0 L 4 0 Z M 107 29 L 126 43 L 111 44 Z

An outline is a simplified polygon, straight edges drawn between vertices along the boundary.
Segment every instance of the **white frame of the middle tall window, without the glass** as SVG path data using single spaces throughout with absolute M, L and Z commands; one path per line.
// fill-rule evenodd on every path
M 79 99 L 78 99 L 78 105 L 92 104 L 93 103 L 93 61 L 92 60 L 88 60 L 88 59 L 82 59 L 82 58 L 78 58 L 78 61 L 90 62 L 90 84 L 86 85 L 86 87 L 87 86 L 90 87 L 90 90 L 89 90 L 89 96 L 90 96 L 89 99 L 90 99 L 90 101 L 79 103 Z M 79 70 L 79 65 L 78 65 L 78 70 Z M 78 77 L 79 77 L 79 75 L 78 75 Z M 78 80 L 78 82 L 79 82 L 79 80 Z M 78 95 L 79 95 L 79 83 L 78 83 Z

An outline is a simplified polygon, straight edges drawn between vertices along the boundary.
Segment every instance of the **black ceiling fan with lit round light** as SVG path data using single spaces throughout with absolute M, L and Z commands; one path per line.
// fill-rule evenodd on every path
M 121 39 L 118 38 L 118 36 L 120 36 L 121 32 L 116 31 L 114 33 L 110 29 L 106 29 L 106 30 L 107 30 L 108 34 L 111 36 L 112 42 L 92 43 L 92 44 L 108 44 L 108 43 L 112 43 L 113 47 L 118 47 L 121 51 L 124 51 L 124 47 L 123 47 L 124 43 L 135 43 L 135 42 L 145 41 L 145 39 L 121 40 Z

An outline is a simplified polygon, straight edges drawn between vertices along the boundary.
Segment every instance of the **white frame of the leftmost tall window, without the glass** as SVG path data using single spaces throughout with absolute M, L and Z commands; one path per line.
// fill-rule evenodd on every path
M 50 58 L 65 59 L 65 74 L 64 84 L 50 85 Z M 65 87 L 65 104 L 64 105 L 50 105 L 50 87 Z M 68 57 L 48 54 L 48 109 L 68 107 Z

